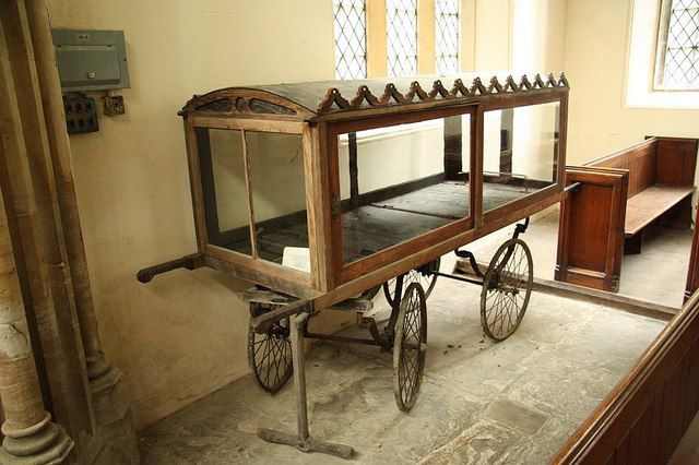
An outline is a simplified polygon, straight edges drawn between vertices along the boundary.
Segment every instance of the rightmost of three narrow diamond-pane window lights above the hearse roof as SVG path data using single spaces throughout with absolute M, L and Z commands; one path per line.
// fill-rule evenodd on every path
M 435 1 L 435 60 L 437 73 L 459 72 L 459 0 Z

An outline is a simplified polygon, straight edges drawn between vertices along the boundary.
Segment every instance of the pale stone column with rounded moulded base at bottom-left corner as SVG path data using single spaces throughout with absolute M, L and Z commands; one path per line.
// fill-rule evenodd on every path
M 0 207 L 0 397 L 5 437 L 0 463 L 48 464 L 66 460 L 73 441 L 44 409 L 3 207 Z

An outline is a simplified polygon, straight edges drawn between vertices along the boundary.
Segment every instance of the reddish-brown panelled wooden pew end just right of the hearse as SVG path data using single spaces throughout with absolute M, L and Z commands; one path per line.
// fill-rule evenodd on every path
M 621 169 L 568 167 L 560 212 L 556 279 L 617 291 L 624 249 L 628 175 Z

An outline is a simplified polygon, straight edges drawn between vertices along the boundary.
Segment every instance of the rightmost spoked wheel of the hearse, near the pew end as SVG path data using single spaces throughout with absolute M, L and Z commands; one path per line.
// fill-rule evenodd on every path
M 532 252 L 521 239 L 506 241 L 490 260 L 481 291 L 481 324 L 493 341 L 505 341 L 520 325 L 532 294 Z

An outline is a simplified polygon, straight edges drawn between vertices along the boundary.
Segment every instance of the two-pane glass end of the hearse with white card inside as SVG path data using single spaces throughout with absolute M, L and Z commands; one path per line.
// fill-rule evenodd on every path
M 301 136 L 246 131 L 245 138 L 250 196 L 241 131 L 197 128 L 209 242 L 253 255 L 251 198 L 258 258 L 309 272 Z

